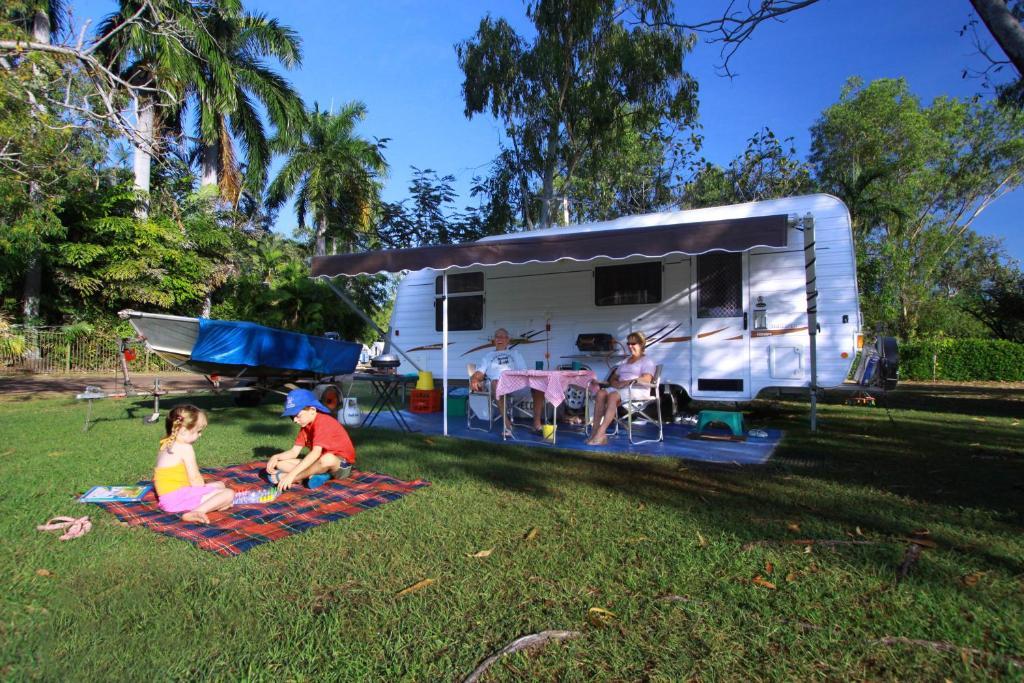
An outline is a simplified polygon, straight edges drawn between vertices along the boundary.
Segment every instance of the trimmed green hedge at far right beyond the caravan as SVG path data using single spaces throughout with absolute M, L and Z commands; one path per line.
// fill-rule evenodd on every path
M 1024 381 L 1024 344 L 1001 339 L 938 339 L 899 345 L 902 380 Z

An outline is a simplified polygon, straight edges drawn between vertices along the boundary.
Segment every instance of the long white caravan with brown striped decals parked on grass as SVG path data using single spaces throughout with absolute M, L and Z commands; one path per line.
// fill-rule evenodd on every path
M 769 218 L 776 237 L 749 237 L 757 219 Z M 682 244 L 663 244 L 667 234 L 688 237 Z M 814 244 L 808 234 L 815 236 Z M 634 236 L 626 251 L 601 242 Z M 460 249 L 461 257 L 441 257 Z M 599 376 L 622 358 L 622 346 L 605 342 L 643 332 L 647 354 L 664 366 L 663 384 L 699 400 L 735 401 L 769 388 L 809 388 L 813 367 L 814 386 L 842 384 L 860 344 L 850 214 L 828 195 L 628 216 L 391 253 L 398 252 L 429 258 L 416 265 L 352 262 L 336 269 L 314 261 L 313 274 L 434 266 L 408 272 L 398 285 L 388 332 L 407 358 L 402 373 L 428 370 L 441 376 L 445 271 L 451 379 L 465 378 L 466 364 L 478 360 L 497 328 L 511 333 L 530 368 L 577 362 Z

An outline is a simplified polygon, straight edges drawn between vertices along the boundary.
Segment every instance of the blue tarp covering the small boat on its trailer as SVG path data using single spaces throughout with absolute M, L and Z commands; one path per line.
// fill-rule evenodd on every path
M 361 344 L 265 328 L 254 323 L 199 318 L 191 360 L 223 366 L 280 368 L 317 375 L 355 371 Z

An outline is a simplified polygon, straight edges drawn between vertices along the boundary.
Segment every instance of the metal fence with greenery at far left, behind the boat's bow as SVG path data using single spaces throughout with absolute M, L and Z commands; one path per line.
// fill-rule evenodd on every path
M 135 358 L 132 373 L 177 371 L 140 343 L 131 344 Z M 121 338 L 113 334 L 75 334 L 63 328 L 13 326 L 0 333 L 0 373 L 30 372 L 46 375 L 116 372 Z M 177 371 L 180 372 L 180 371 Z

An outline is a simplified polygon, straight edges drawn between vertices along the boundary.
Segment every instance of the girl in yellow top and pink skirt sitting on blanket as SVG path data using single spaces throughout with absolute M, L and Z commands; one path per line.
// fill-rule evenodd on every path
M 184 521 L 209 524 L 208 512 L 231 507 L 234 492 L 220 481 L 206 483 L 196 464 L 193 443 L 206 429 L 206 414 L 195 405 L 176 405 L 167 415 L 167 437 L 161 439 L 153 484 L 160 509 L 183 512 Z

